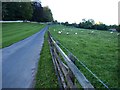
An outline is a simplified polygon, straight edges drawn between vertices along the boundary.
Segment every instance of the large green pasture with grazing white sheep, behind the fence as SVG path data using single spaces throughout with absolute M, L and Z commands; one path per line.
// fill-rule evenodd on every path
M 55 39 L 60 41 L 79 60 L 93 71 L 109 88 L 118 85 L 118 36 L 117 32 L 78 29 L 55 25 L 49 28 Z M 58 31 L 62 31 L 58 34 Z M 67 35 L 67 32 L 69 33 Z M 77 33 L 77 34 L 75 34 Z M 79 63 L 78 68 L 94 87 L 103 87 Z

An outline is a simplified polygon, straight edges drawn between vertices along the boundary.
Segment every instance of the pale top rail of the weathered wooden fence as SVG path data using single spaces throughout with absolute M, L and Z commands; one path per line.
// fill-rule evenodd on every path
M 77 66 L 69 59 L 69 57 L 65 54 L 65 52 L 63 52 L 63 50 L 57 45 L 55 40 L 53 40 L 53 37 L 51 36 L 51 34 L 49 36 L 53 43 L 53 46 L 56 47 L 56 50 L 62 55 L 65 62 L 69 66 L 69 69 L 73 72 L 76 79 L 78 80 L 79 84 L 81 84 L 81 86 L 84 89 L 88 89 L 88 88 L 94 89 L 92 84 L 87 80 L 87 78 L 83 75 L 83 73 L 81 73 L 81 71 L 77 68 Z

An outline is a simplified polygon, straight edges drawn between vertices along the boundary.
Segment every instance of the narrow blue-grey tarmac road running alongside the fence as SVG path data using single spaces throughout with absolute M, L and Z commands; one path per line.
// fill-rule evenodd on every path
M 2 49 L 2 88 L 32 87 L 47 29 Z

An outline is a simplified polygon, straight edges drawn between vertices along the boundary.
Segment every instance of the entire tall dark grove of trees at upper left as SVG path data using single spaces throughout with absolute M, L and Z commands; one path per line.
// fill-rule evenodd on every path
M 40 2 L 2 2 L 2 20 L 51 22 L 53 16 L 50 8 L 42 7 Z

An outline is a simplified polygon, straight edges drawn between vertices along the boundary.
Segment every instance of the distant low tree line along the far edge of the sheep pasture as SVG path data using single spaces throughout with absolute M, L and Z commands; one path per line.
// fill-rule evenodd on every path
M 93 19 L 82 19 L 82 22 L 79 24 L 72 23 L 69 24 L 68 22 L 57 22 L 57 20 L 54 21 L 54 24 L 62 24 L 65 26 L 74 26 L 77 28 L 84 28 L 84 29 L 96 29 L 96 30 L 109 30 L 109 29 L 116 29 L 118 32 L 120 32 L 120 25 L 106 25 L 102 22 L 95 23 Z

